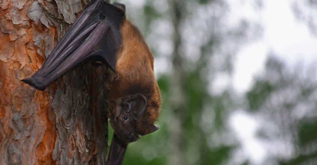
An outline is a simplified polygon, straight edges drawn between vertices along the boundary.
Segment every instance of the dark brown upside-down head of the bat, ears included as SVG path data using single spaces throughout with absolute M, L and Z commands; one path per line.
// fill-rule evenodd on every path
M 137 123 L 146 109 L 146 97 L 142 94 L 129 95 L 119 99 L 115 109 L 114 129 L 118 137 L 126 143 L 138 140 L 140 133 Z M 151 130 L 146 134 L 152 133 L 159 128 L 149 124 Z M 148 127 L 148 125 L 146 125 Z

